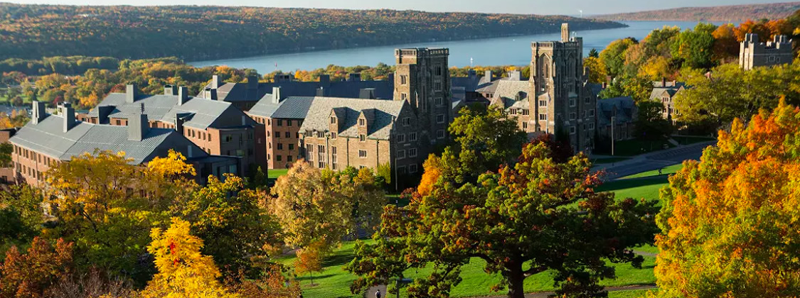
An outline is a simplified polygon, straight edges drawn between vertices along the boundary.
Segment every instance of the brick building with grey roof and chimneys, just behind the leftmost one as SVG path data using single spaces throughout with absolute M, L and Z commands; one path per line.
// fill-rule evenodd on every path
M 257 138 L 264 134 L 264 125 L 230 102 L 190 97 L 186 87 L 166 85 L 163 94 L 141 95 L 136 85 L 127 85 L 126 93 L 108 94 L 78 118 L 125 126 L 140 113 L 147 115 L 150 127 L 174 129 L 208 154 L 241 157 L 243 173 L 251 165 L 266 169 L 265 140 Z

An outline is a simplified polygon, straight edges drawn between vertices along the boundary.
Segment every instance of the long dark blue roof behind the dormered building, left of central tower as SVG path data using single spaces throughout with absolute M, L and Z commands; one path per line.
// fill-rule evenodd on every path
M 206 87 L 210 87 L 209 83 Z M 394 81 L 277 81 L 258 83 L 258 89 L 248 89 L 247 83 L 224 83 L 217 88 L 217 98 L 221 101 L 260 101 L 272 93 L 273 87 L 281 87 L 281 99 L 293 96 L 314 97 L 322 88 L 326 97 L 357 98 L 361 89 L 375 89 L 375 97 L 392 99 Z M 204 97 L 203 92 L 198 97 Z

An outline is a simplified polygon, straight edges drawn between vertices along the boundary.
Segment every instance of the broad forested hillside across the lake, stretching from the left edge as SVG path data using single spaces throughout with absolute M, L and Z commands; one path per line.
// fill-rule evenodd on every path
M 224 6 L 0 3 L 0 60 L 52 56 L 187 61 L 624 26 L 563 16 Z

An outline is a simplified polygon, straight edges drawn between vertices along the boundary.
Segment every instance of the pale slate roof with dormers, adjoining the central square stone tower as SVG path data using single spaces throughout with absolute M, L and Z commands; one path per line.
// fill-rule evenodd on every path
M 287 100 L 293 97 L 287 98 Z M 344 113 L 344 119 L 339 119 L 341 127 L 339 136 L 358 137 L 358 117 L 362 111 L 370 114 L 372 121 L 368 125 L 368 138 L 388 140 L 392 127 L 393 117 L 400 116 L 402 109 L 407 106 L 406 101 L 387 101 L 382 99 L 342 98 L 342 97 L 311 97 L 313 102 L 306 120 L 302 122 L 300 131 L 328 131 L 330 128 L 330 113 L 333 109 Z

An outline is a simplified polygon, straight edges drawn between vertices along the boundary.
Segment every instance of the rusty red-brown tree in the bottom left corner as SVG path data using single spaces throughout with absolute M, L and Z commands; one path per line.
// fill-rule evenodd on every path
M 62 276 L 74 270 L 73 244 L 58 239 L 55 245 L 35 237 L 25 254 L 13 246 L 0 265 L 0 296 L 38 297 Z

